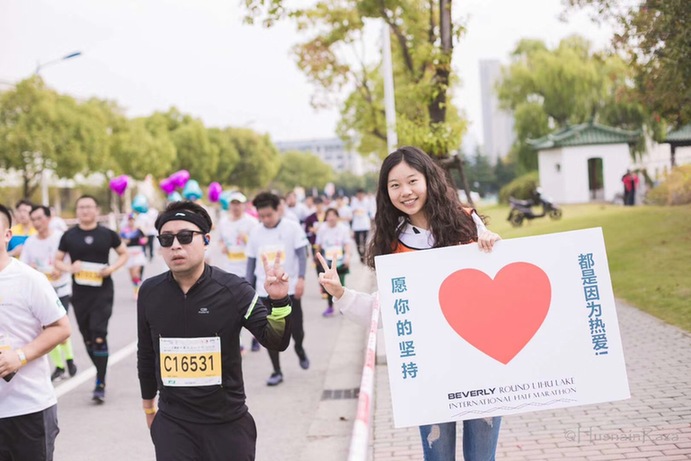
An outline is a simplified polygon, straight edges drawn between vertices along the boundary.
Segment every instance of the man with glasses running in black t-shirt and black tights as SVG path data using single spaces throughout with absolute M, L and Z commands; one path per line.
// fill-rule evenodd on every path
M 90 195 L 77 199 L 78 224 L 60 239 L 55 267 L 72 274 L 72 306 L 86 351 L 96 367 L 92 398 L 103 403 L 108 367 L 108 321 L 113 313 L 110 275 L 127 262 L 127 249 L 114 231 L 98 224 L 98 202 Z M 118 254 L 109 265 L 110 249 Z M 71 265 L 64 262 L 69 255 Z

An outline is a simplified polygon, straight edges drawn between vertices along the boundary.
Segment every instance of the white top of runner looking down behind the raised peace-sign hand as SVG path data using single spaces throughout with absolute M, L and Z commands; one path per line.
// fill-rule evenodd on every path
M 281 252 L 281 264 L 289 277 L 288 294 L 293 295 L 298 282 L 298 259 L 295 256 L 295 250 L 307 245 L 309 242 L 305 231 L 298 223 L 288 219 L 281 219 L 278 225 L 272 229 L 262 225 L 252 230 L 249 242 L 247 242 L 247 257 L 257 259 L 254 275 L 257 277 L 255 289 L 259 296 L 268 296 L 264 289 L 266 274 L 261 256 L 265 254 L 269 264 L 273 264 L 276 259 L 276 252 Z

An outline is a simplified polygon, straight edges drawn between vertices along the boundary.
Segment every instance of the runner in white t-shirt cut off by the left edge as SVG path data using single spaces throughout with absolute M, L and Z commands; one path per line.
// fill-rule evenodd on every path
M 0 457 L 52 461 L 57 398 L 45 354 L 70 322 L 48 279 L 9 256 L 11 225 L 0 205 Z

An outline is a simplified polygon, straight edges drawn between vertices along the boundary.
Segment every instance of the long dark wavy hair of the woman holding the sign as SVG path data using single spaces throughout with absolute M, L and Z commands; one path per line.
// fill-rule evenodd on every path
M 396 208 L 389 198 L 389 172 L 401 162 L 407 163 L 425 176 L 427 201 L 423 210 L 430 226 L 429 231 L 434 236 L 434 248 L 477 240 L 475 222 L 463 211 L 458 194 L 449 184 L 444 170 L 421 149 L 412 146 L 401 147 L 386 157 L 379 171 L 374 231 L 365 261 L 372 269 L 375 256 L 394 252 L 398 236 L 403 230 L 401 221 L 408 217 Z

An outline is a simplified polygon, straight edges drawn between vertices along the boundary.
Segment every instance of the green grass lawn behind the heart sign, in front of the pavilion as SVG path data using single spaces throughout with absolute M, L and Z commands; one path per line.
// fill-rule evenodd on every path
M 538 218 L 520 228 L 506 220 L 507 206 L 478 208 L 505 239 L 602 227 L 614 295 L 691 331 L 691 205 L 566 205 L 561 220 Z

